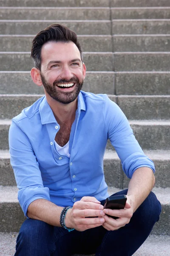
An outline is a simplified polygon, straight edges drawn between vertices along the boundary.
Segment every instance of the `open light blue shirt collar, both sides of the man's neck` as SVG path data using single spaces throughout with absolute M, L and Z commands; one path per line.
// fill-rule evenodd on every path
M 77 108 L 78 108 L 78 111 L 86 110 L 84 98 L 82 96 L 81 91 L 78 95 L 78 107 Z M 56 123 L 56 119 L 54 117 L 53 111 L 51 110 L 50 105 L 48 104 L 45 96 L 40 104 L 40 117 L 41 117 L 42 125 L 45 125 L 48 123 Z

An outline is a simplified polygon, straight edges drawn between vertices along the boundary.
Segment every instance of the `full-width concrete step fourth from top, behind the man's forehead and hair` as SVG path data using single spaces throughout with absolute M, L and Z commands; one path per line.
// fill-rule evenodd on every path
M 0 35 L 0 51 L 30 51 L 33 38 Z M 113 39 L 111 35 L 78 35 L 78 39 L 84 52 L 170 52 L 170 35 L 113 35 Z

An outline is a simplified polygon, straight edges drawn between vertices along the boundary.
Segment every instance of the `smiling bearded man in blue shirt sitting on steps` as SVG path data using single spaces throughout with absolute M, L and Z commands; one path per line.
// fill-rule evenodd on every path
M 16 116 L 9 131 L 18 199 L 27 217 L 15 256 L 133 255 L 161 211 L 151 192 L 153 162 L 107 95 L 80 91 L 86 67 L 74 32 L 49 26 L 34 38 L 31 57 L 31 77 L 45 96 Z M 128 190 L 116 193 L 127 194 L 121 210 L 103 209 L 108 139 L 131 178 Z

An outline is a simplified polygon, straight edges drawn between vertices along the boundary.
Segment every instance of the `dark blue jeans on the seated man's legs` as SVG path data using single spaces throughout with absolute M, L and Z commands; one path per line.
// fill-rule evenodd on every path
M 126 195 L 127 189 L 114 195 Z M 101 201 L 104 204 L 104 201 Z M 149 236 L 159 220 L 161 204 L 153 192 L 134 212 L 129 224 L 115 231 L 102 226 L 83 232 L 68 232 L 43 221 L 27 219 L 20 228 L 14 256 L 68 256 L 74 253 L 96 256 L 131 256 Z

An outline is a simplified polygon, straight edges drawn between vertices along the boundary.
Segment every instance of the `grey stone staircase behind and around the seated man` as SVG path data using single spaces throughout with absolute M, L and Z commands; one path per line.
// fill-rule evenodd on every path
M 14 255 L 24 215 L 8 153 L 11 118 L 39 99 L 30 77 L 34 35 L 52 23 L 74 30 L 84 52 L 83 90 L 107 93 L 156 165 L 160 221 L 134 256 L 170 255 L 170 0 L 0 1 L 0 255 Z M 108 142 L 109 193 L 128 186 Z

